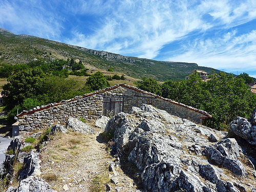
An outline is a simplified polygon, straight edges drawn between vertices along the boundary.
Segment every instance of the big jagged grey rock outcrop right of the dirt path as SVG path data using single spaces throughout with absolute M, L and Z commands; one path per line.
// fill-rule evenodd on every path
M 142 104 L 106 125 L 113 155 L 128 160 L 147 191 L 252 191 L 256 172 L 236 139 Z

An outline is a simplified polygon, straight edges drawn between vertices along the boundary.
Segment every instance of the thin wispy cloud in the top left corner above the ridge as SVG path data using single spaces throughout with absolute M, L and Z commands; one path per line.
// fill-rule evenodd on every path
M 0 26 L 8 26 L 14 33 L 57 39 L 61 18 L 43 7 L 41 1 L 0 1 Z

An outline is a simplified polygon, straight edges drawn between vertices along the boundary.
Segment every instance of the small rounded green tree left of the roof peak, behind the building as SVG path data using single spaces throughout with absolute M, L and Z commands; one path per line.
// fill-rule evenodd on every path
M 110 84 L 104 77 L 103 73 L 98 71 L 95 74 L 88 77 L 86 81 L 86 86 L 89 86 L 91 91 L 96 91 L 109 87 Z

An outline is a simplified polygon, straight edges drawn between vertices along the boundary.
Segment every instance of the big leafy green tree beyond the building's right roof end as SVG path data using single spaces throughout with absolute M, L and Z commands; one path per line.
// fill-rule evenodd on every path
M 256 106 L 256 95 L 241 78 L 226 73 L 212 74 L 206 84 L 210 97 L 205 100 L 204 110 L 212 115 L 204 124 L 218 130 L 227 130 L 237 116 L 249 118 Z

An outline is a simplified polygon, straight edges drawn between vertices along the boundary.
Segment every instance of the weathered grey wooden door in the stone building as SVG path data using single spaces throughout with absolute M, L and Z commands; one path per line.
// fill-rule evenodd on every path
M 123 97 L 103 97 L 102 115 L 116 115 L 119 112 L 123 112 Z

